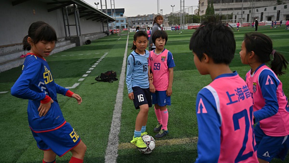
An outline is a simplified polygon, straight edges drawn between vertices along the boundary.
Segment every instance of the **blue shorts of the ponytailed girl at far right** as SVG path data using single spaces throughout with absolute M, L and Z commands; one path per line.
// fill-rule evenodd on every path
M 289 137 L 287 136 L 268 136 L 260 128 L 258 122 L 254 128 L 255 140 L 257 144 L 257 157 L 270 162 L 273 158 L 285 159 L 288 147 Z

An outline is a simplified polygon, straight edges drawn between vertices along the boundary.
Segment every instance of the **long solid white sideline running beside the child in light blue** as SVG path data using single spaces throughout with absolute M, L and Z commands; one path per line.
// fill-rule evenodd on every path
M 126 66 L 126 58 L 127 58 L 127 43 L 125 46 L 125 54 L 123 56 L 123 66 L 121 68 L 121 76 L 118 83 L 118 90 L 116 95 L 116 103 L 114 105 L 114 111 L 112 115 L 112 123 L 110 126 L 110 133 L 108 137 L 108 146 L 105 151 L 105 163 L 116 163 L 116 158 L 118 156 L 118 134 L 121 128 L 121 111 L 123 104 L 123 87 L 125 81 L 125 66 Z

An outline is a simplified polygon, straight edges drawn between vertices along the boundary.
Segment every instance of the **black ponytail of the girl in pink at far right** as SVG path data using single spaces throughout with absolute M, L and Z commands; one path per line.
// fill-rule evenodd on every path
M 288 61 L 281 55 L 279 52 L 273 53 L 273 61 L 271 62 L 271 69 L 274 71 L 276 75 L 285 74 L 282 69 L 287 69 Z

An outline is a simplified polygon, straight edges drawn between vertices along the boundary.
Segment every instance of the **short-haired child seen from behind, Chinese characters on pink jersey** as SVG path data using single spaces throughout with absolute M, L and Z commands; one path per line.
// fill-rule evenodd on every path
M 197 163 L 258 162 L 251 95 L 229 68 L 235 49 L 232 30 L 221 22 L 204 22 L 191 37 L 194 63 L 201 75 L 212 79 L 197 95 Z

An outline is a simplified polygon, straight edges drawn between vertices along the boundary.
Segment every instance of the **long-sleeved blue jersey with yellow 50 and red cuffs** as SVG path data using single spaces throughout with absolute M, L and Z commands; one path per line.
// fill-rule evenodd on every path
M 32 54 L 32 53 L 30 53 Z M 11 94 L 22 99 L 29 99 L 27 113 L 29 126 L 36 132 L 53 130 L 63 124 L 65 119 L 57 101 L 57 93 L 66 95 L 68 89 L 56 84 L 45 59 L 36 55 L 27 55 L 22 74 L 11 88 Z M 54 103 L 45 116 L 40 117 L 40 101 L 48 95 Z

